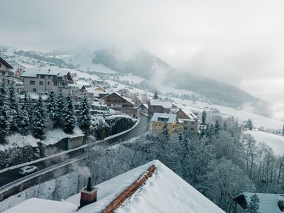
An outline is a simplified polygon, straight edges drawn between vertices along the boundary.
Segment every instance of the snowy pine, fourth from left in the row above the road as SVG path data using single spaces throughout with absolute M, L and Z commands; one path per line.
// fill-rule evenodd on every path
M 45 134 L 45 110 L 43 109 L 43 98 L 38 97 L 38 103 L 35 107 L 33 115 L 33 136 L 35 138 L 43 139 Z

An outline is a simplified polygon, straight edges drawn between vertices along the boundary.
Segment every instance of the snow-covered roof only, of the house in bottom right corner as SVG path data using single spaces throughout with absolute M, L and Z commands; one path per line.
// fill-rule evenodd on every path
M 239 199 L 244 198 L 246 200 L 246 203 L 249 204 L 251 202 L 251 196 L 255 193 L 251 192 L 244 192 L 241 195 L 238 195 L 234 198 L 236 202 L 239 201 Z M 273 212 L 273 213 L 280 213 L 279 207 L 278 207 L 278 200 L 284 199 L 284 194 L 265 194 L 265 193 L 256 193 L 256 195 L 259 198 L 259 212 Z

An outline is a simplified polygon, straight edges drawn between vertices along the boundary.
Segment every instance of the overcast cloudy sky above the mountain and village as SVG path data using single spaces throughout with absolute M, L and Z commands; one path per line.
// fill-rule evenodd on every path
M 282 0 L 0 0 L 0 5 L 0 45 L 143 47 L 173 67 L 234 84 L 284 108 Z

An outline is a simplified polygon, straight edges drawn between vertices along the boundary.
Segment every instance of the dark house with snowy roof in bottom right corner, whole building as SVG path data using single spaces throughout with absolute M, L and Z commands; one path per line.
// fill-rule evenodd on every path
M 241 195 L 234 197 L 236 202 L 236 213 L 245 213 L 248 204 L 251 202 L 251 196 L 257 195 L 259 199 L 258 212 L 283 212 L 284 210 L 284 195 L 283 194 L 265 194 L 244 192 Z

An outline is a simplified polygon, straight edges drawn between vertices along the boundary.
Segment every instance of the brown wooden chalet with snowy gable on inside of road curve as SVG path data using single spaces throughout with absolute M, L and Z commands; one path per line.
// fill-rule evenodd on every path
M 113 92 L 102 98 L 107 107 L 116 111 L 121 111 L 124 114 L 136 116 L 137 108 L 131 102 L 131 99 L 124 97 L 118 92 Z

